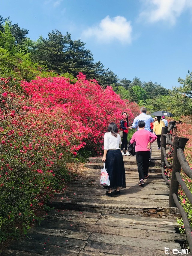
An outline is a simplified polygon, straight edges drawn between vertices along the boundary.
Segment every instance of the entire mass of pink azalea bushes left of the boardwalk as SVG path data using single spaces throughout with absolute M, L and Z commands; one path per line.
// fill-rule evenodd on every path
M 1 78 L 0 86 L 0 242 L 26 233 L 40 221 L 40 209 L 73 178 L 67 163 L 79 150 L 101 154 L 110 122 L 126 111 L 139 112 L 111 87 L 79 74 L 23 81 Z

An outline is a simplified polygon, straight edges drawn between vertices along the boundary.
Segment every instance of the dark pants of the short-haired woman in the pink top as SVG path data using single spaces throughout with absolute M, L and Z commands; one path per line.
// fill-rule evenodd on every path
M 138 151 L 136 152 L 137 169 L 139 173 L 139 179 L 145 179 L 144 174 L 148 173 L 149 169 L 150 151 Z

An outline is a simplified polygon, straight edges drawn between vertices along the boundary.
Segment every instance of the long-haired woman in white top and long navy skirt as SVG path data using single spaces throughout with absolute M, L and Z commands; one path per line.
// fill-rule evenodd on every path
M 121 146 L 121 137 L 118 134 L 118 128 L 115 123 L 110 123 L 108 130 L 104 135 L 104 155 L 102 160 L 105 162 L 105 168 L 109 174 L 110 186 L 107 188 L 107 196 L 112 196 L 112 189 L 116 189 L 116 195 L 120 194 L 119 188 L 126 188 L 125 167 L 123 156 L 119 146 Z

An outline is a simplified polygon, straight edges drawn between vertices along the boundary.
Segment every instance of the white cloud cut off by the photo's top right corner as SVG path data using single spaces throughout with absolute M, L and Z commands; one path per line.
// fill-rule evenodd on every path
M 144 10 L 140 13 L 140 20 L 157 22 L 168 21 L 174 25 L 176 18 L 187 8 L 192 8 L 191 0 L 142 0 Z

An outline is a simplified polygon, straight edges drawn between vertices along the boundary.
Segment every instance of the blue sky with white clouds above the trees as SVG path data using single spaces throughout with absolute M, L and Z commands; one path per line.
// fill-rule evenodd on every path
M 68 31 L 120 79 L 172 89 L 192 71 L 191 0 L 6 0 L 0 14 L 32 40 Z

